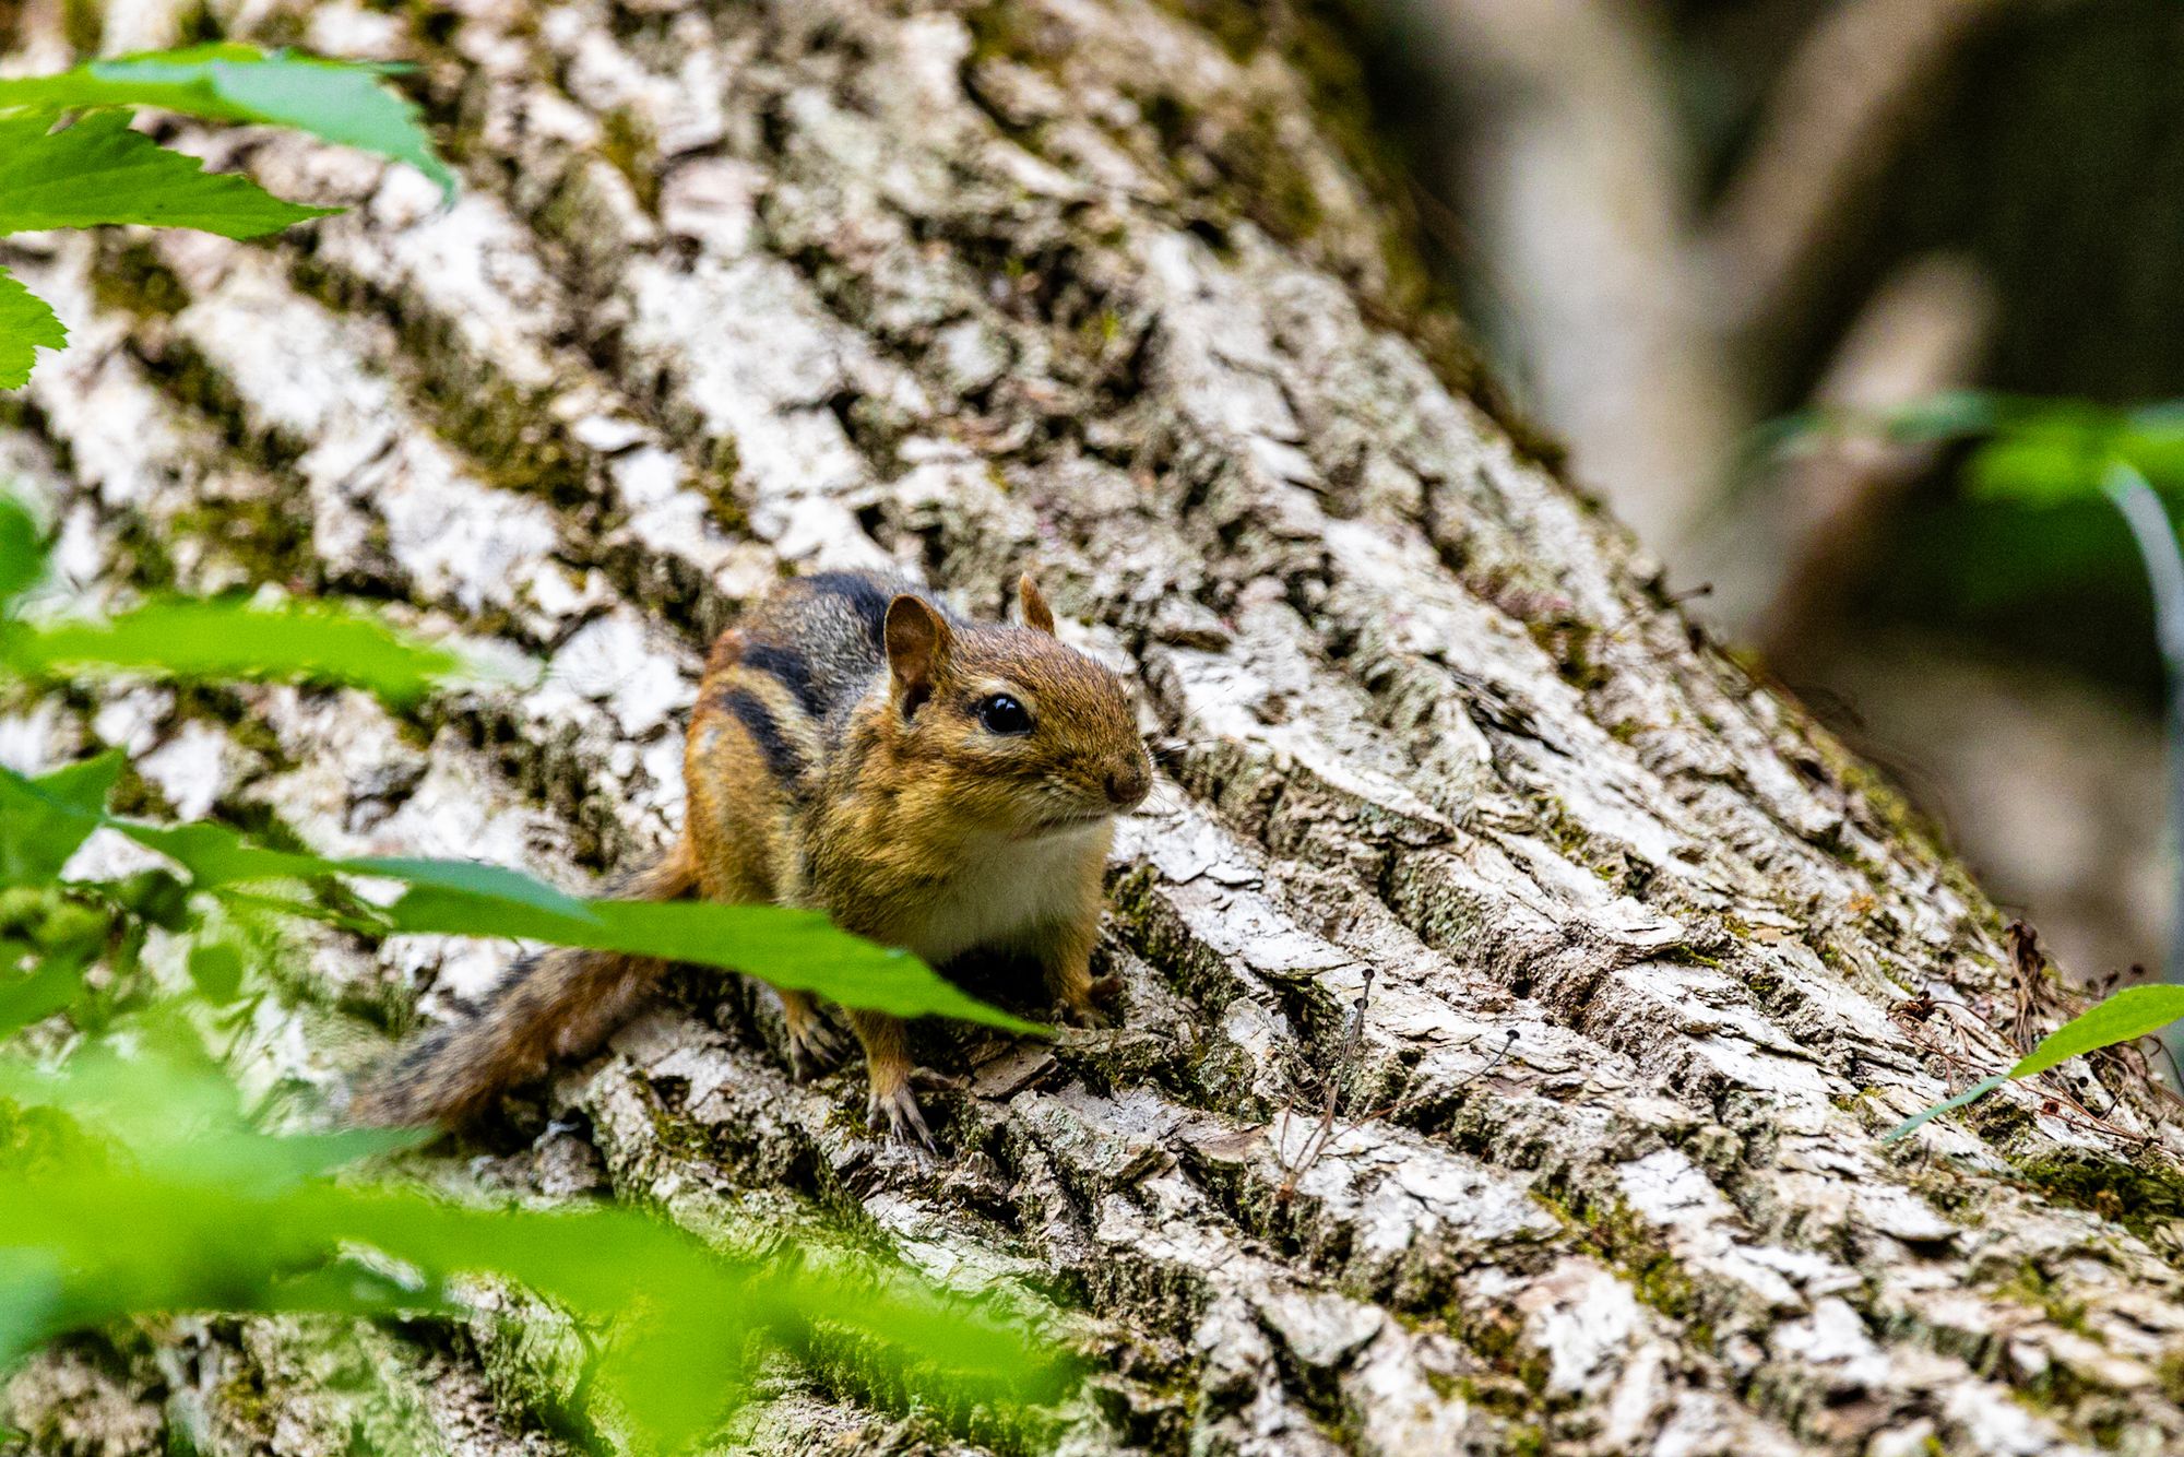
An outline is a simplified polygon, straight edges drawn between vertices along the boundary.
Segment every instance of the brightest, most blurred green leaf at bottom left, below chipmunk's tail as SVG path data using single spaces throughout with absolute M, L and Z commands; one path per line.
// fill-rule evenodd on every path
M 703 1435 L 771 1352 L 819 1346 L 830 1370 L 850 1357 L 941 1411 L 1053 1400 L 1077 1381 L 1000 1298 L 778 1228 L 714 1252 L 644 1210 L 478 1208 L 328 1177 L 387 1140 L 260 1134 L 203 1051 L 173 1044 L 173 1024 L 138 1042 L 59 1075 L 0 1059 L 0 1097 L 72 1125 L 48 1158 L 0 1175 L 0 1367 L 131 1315 L 391 1315 L 441 1308 L 450 1276 L 494 1274 L 583 1326 L 579 1389 L 627 1413 L 638 1450 Z M 360 1249 L 395 1274 L 360 1276 Z

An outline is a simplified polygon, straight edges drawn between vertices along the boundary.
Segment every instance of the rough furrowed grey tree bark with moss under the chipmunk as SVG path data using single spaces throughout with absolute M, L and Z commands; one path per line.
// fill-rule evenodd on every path
M 109 7 L 105 46 L 183 9 Z M 26 57 L 66 59 L 81 13 L 33 9 Z M 2184 1442 L 2177 1138 L 2097 1068 L 1876 1142 L 2011 1055 L 1998 917 L 1481 406 L 1321 20 L 214 13 L 422 59 L 463 199 L 186 133 L 352 212 L 271 247 L 11 253 L 74 339 L 9 467 L 61 502 L 92 596 L 365 594 L 550 675 L 411 719 L 284 688 L 17 701 L 11 762 L 127 743 L 179 815 L 587 885 L 675 821 L 708 633 L 786 566 L 871 561 L 976 607 L 1035 561 L 1171 747 L 1114 865 L 1120 1029 L 935 1029 L 972 1075 L 933 1099 L 946 1160 L 867 1136 L 854 1075 L 788 1081 L 767 1000 L 692 979 L 419 1162 L 710 1236 L 847 1217 L 1079 1311 L 1105 1367 L 1031 1426 L 784 1370 L 723 1446 Z M 299 1107 L 505 955 L 306 950 L 240 1057 Z M 456 1330 L 166 1322 L 20 1374 L 13 1420 L 39 1450 L 612 1446 L 570 1339 L 509 1295 Z

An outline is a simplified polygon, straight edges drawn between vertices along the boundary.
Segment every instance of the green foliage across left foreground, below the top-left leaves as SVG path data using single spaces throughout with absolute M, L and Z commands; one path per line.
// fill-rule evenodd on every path
M 22 642 L 66 642 L 41 671 L 277 677 L 406 699 L 456 662 L 369 618 L 170 601 L 124 631 L 28 627 L 11 601 L 44 540 L 0 496 L 0 675 Z M 207 640 L 210 638 L 210 640 Z M 358 644 L 371 671 L 358 671 Z M 961 1295 L 854 1241 L 780 1230 L 714 1249 L 633 1208 L 459 1206 L 358 1160 L 417 1134 L 260 1125 L 216 1046 L 293 957 L 280 915 L 367 935 L 515 935 L 697 959 L 850 1005 L 1024 1027 L 924 963 L 773 907 L 618 904 L 470 863 L 323 858 L 218 824 L 109 815 L 124 771 L 105 754 L 31 778 L 0 769 L 0 1370 L 70 1330 L 175 1311 L 459 1315 L 474 1280 L 507 1280 L 585 1332 L 587 1411 L 640 1448 L 712 1431 L 762 1363 L 828 1350 L 876 1389 L 948 1413 L 1011 1413 L 1075 1385 L 1033 1313 Z M 61 880 L 109 830 L 173 869 Z M 330 898 L 393 880 L 387 907 Z M 249 889 L 256 887 L 256 889 Z

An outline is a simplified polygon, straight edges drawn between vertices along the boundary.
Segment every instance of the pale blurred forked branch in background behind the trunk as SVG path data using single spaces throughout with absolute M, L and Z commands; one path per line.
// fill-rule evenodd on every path
M 1915 454 L 1824 454 L 1749 496 L 1771 520 L 1721 531 L 1725 463 L 1758 424 L 1776 345 L 1811 310 L 1935 76 L 2014 0 L 1850 0 L 1773 83 L 1754 142 L 1701 208 L 1651 9 L 1616 0 L 1409 0 L 1470 120 L 1452 188 L 1507 297 L 1518 365 L 1581 474 L 1671 564 L 1717 583 L 1712 614 L 1780 640 Z M 1990 304 L 1963 260 L 1911 262 L 1859 312 L 1817 400 L 1902 404 L 1966 382 Z M 1701 537 L 1730 542 L 1706 550 Z M 1754 550 L 1758 546 L 1758 550 Z M 1780 629 L 1780 631 L 1778 631 Z

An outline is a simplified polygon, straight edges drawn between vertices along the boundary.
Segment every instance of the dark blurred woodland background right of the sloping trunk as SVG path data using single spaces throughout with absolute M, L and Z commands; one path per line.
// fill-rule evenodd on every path
M 1575 478 L 2066 976 L 2158 968 L 2162 664 L 2099 478 L 2184 491 L 2184 7 L 1374 0 L 1367 28 L 1444 282 Z

